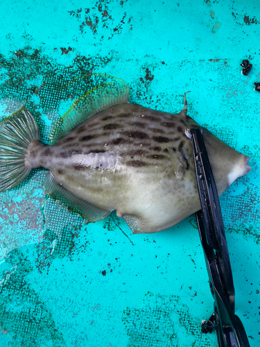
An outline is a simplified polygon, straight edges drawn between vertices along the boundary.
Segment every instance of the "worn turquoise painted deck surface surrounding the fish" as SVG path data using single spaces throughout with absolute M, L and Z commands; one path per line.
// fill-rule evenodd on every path
M 236 314 L 259 346 L 259 1 L 3 0 L 0 13 L 1 119 L 26 105 L 47 143 L 71 104 L 59 88 L 106 73 L 157 110 L 191 90 L 189 115 L 250 156 L 220 203 Z M 200 333 L 213 298 L 194 216 L 150 235 L 115 214 L 87 225 L 46 196 L 46 173 L 0 194 L 0 346 L 217 346 Z

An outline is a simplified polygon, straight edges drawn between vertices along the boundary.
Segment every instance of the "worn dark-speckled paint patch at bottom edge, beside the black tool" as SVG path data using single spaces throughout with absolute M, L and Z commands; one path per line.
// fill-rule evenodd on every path
M 178 296 L 148 292 L 141 309 L 127 308 L 122 321 L 130 337 L 128 346 L 217 346 L 200 332 L 200 319 L 189 314 Z

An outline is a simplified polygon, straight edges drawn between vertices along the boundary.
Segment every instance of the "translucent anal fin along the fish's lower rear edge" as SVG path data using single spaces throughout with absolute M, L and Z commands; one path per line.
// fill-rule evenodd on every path
M 97 208 L 92 203 L 78 198 L 78 196 L 72 194 L 58 183 L 58 180 L 51 172 L 46 176 L 45 188 L 53 200 L 66 207 L 69 211 L 80 214 L 81 217 L 89 222 L 101 221 L 111 212 Z

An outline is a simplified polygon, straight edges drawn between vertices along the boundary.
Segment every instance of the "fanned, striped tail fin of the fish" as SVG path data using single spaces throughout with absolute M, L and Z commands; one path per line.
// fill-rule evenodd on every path
M 25 157 L 28 145 L 40 139 L 37 123 L 20 108 L 0 123 L 0 192 L 16 187 L 29 174 Z

